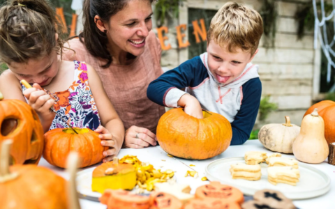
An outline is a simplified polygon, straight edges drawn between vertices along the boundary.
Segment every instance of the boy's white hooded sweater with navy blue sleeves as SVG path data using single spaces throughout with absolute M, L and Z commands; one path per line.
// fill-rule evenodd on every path
M 258 65 L 248 63 L 241 75 L 229 84 L 218 83 L 207 66 L 207 53 L 195 56 L 151 82 L 147 96 L 165 107 L 177 107 L 181 96 L 189 93 L 199 100 L 202 109 L 214 111 L 230 121 L 230 145 L 244 144 L 260 107 L 262 84 Z M 183 88 L 185 91 L 180 90 Z

